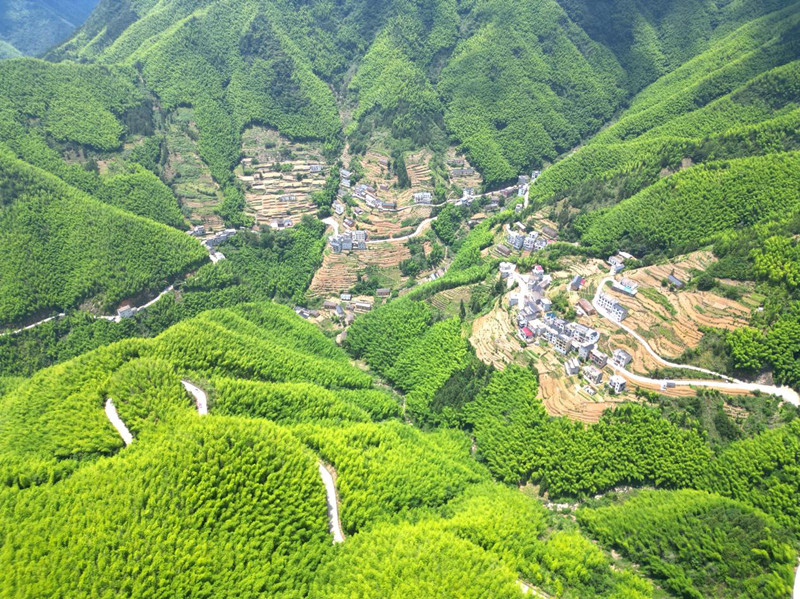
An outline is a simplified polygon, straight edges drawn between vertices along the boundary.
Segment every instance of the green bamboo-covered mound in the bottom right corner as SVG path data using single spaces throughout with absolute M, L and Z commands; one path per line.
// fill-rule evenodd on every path
M 702 491 L 641 491 L 578 519 L 680 597 L 780 597 L 794 548 L 768 516 Z

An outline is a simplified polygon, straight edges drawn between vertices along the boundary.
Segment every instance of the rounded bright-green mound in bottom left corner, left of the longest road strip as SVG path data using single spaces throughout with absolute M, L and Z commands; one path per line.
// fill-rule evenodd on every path
M 314 456 L 266 421 L 172 420 L 0 504 L 0 579 L 20 595 L 301 597 L 330 546 Z

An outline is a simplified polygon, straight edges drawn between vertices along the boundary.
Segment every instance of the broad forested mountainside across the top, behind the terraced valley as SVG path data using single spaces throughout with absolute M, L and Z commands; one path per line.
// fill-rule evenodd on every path
M 104 0 L 49 57 L 135 65 L 165 108 L 194 105 L 200 152 L 233 218 L 241 197 L 230 169 L 249 123 L 325 140 L 332 155 L 340 112 L 357 153 L 375 131 L 390 133 L 393 152 L 442 150 L 450 136 L 497 185 L 574 147 L 631 93 L 778 7 Z

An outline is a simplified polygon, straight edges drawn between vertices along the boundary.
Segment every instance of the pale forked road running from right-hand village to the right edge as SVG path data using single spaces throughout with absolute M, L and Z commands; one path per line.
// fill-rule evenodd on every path
M 594 306 L 597 313 L 608 320 L 609 322 L 615 324 L 617 327 L 621 328 L 623 331 L 628 333 L 631 337 L 636 339 L 636 341 L 644 347 L 645 351 L 652 356 L 652 358 L 661 364 L 662 366 L 666 366 L 667 368 L 680 368 L 684 370 L 692 370 L 694 372 L 700 372 L 703 374 L 707 374 L 709 376 L 717 377 L 722 379 L 721 381 L 713 381 L 713 380 L 695 380 L 695 379 L 687 379 L 687 380 L 677 380 L 673 381 L 670 380 L 670 384 L 674 384 L 676 387 L 709 387 L 711 389 L 716 389 L 722 392 L 733 392 L 733 393 L 753 393 L 758 391 L 760 393 L 766 393 L 769 395 L 775 395 L 781 398 L 783 401 L 793 404 L 795 406 L 800 406 L 800 395 L 794 389 L 790 389 L 789 387 L 776 387 L 774 385 L 761 385 L 758 383 L 746 383 L 744 381 L 740 381 L 738 379 L 729 377 L 725 374 L 721 374 L 719 372 L 714 372 L 713 370 L 708 370 L 706 368 L 700 368 L 699 366 L 691 366 L 689 364 L 677 364 L 675 362 L 670 362 L 662 358 L 656 351 L 650 347 L 650 344 L 639 335 L 636 331 L 631 329 L 630 327 L 626 326 L 625 324 L 618 322 L 611 318 L 611 315 L 608 314 L 601 306 L 600 302 L 598 301 L 600 294 L 603 293 L 605 289 L 605 285 L 609 281 L 613 281 L 612 277 L 606 277 L 602 280 L 602 282 L 597 286 L 597 291 L 595 292 L 594 298 L 592 299 L 592 305 Z M 625 368 L 621 368 L 614 364 L 611 364 L 611 367 L 614 369 L 615 372 L 618 372 L 620 375 L 624 376 L 627 380 L 632 381 L 634 383 L 642 383 L 645 385 L 661 385 L 664 383 L 663 380 L 660 379 L 653 379 L 650 377 L 641 376 L 638 374 L 634 374 Z M 798 598 L 800 599 L 800 598 Z

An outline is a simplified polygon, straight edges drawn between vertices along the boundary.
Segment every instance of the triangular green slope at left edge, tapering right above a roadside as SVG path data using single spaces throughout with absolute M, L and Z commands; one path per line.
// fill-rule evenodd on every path
M 104 310 L 206 261 L 179 231 L 100 203 L 0 150 L 0 322 L 87 300 Z

